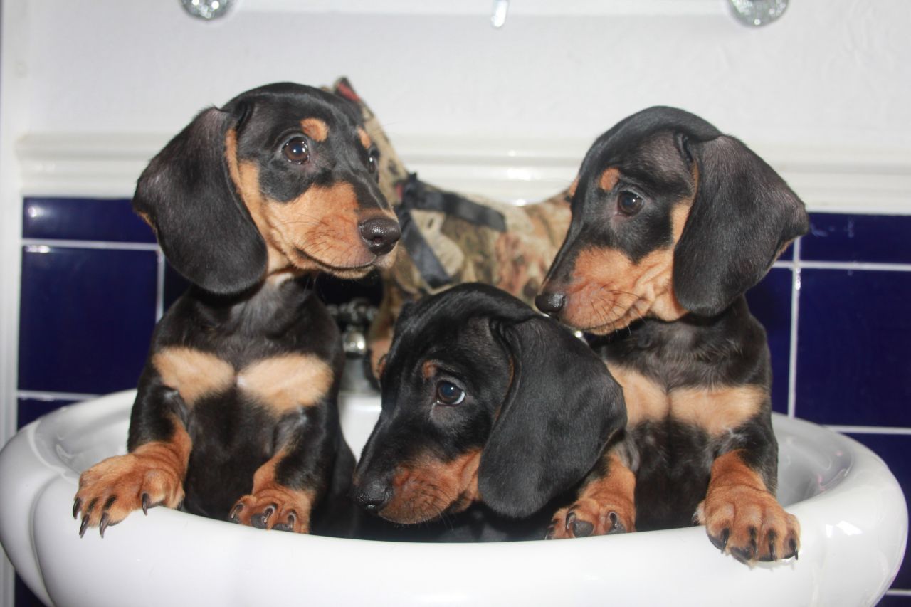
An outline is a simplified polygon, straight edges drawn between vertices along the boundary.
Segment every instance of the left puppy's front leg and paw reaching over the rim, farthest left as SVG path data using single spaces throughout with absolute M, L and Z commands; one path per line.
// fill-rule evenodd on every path
M 184 409 L 179 393 L 157 376 L 140 384 L 130 419 L 129 452 L 104 459 L 79 477 L 73 518 L 82 515 L 80 536 L 87 527 L 98 527 L 104 537 L 109 525 L 136 509 L 179 507 L 192 448 L 181 421 Z

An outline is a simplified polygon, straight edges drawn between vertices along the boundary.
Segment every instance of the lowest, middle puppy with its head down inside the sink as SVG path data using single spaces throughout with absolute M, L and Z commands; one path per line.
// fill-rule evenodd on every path
M 381 369 L 382 412 L 353 496 L 395 523 L 475 503 L 531 517 L 577 485 L 626 422 L 588 345 L 486 284 L 404 306 Z

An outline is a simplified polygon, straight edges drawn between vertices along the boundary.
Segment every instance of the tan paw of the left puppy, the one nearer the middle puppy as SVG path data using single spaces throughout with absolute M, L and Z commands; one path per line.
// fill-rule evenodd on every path
M 229 519 L 257 529 L 309 533 L 310 510 L 306 492 L 272 484 L 238 499 Z

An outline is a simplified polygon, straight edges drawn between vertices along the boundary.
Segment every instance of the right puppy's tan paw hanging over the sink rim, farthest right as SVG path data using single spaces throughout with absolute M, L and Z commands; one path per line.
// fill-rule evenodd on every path
M 715 548 L 744 563 L 796 559 L 800 550 L 800 523 L 763 489 L 711 490 L 694 518 Z

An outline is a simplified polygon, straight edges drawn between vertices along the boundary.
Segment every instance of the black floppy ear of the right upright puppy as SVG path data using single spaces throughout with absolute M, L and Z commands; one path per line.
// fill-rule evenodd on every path
M 762 280 L 809 219 L 804 202 L 739 140 L 720 136 L 685 147 L 698 185 L 674 249 L 673 288 L 684 308 L 711 316 Z

